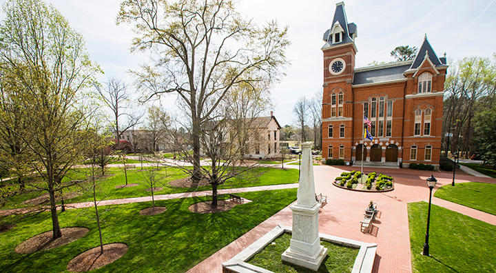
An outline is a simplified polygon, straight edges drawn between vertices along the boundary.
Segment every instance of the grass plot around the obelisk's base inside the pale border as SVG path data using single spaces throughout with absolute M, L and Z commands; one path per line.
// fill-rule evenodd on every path
M 253 258 L 249 259 L 247 263 L 262 267 L 266 270 L 270 270 L 274 273 L 279 272 L 300 272 L 300 273 L 311 273 L 315 272 L 298 265 L 291 265 L 288 263 L 282 263 L 281 254 L 285 252 L 289 247 L 291 240 L 291 235 L 282 234 L 276 238 L 273 243 L 267 245 L 262 252 L 259 252 Z M 322 261 L 317 272 L 351 272 L 353 268 L 353 263 L 355 263 L 355 258 L 358 255 L 358 249 L 343 247 L 341 245 L 335 245 L 326 241 L 320 243 L 324 247 L 327 247 L 328 255 Z

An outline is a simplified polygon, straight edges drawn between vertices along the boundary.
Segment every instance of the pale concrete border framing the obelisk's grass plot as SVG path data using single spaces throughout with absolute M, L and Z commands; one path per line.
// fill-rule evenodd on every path
M 274 239 L 282 233 L 291 233 L 292 228 L 284 225 L 278 225 L 273 230 L 267 232 L 262 238 L 258 239 L 245 250 L 234 256 L 229 261 L 222 264 L 224 273 L 273 273 L 265 270 L 262 267 L 251 265 L 247 263 L 251 257 L 255 256 L 258 252 L 262 251 L 264 247 L 269 245 Z M 370 273 L 372 272 L 373 263 L 375 260 L 375 251 L 377 250 L 377 243 L 364 243 L 351 239 L 345 239 L 338 236 L 331 236 L 328 234 L 319 233 L 322 241 L 336 243 L 344 247 L 360 248 L 358 255 L 353 264 L 351 273 Z

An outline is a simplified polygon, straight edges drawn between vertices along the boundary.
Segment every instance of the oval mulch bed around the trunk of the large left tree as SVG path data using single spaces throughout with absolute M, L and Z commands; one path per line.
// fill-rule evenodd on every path
M 52 248 L 67 245 L 72 241 L 81 239 L 81 237 L 85 236 L 89 231 L 90 230 L 87 228 L 63 228 L 61 229 L 62 236 L 53 240 L 53 232 L 50 230 L 23 241 L 20 245 L 17 245 L 15 251 L 20 254 L 29 254 L 43 250 L 51 250 Z

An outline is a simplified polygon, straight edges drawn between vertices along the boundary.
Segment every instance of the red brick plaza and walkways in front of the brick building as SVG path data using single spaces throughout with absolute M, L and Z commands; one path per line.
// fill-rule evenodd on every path
M 298 168 L 296 166 L 296 168 Z M 332 185 L 331 181 L 344 170 L 352 167 L 333 168 L 329 166 L 314 166 L 316 192 L 327 195 L 327 205 L 319 212 L 320 232 L 341 236 L 348 239 L 378 243 L 377 256 L 373 272 L 405 272 L 411 273 L 411 250 L 409 239 L 409 223 L 406 204 L 417 201 L 428 201 L 426 179 L 433 172 L 408 169 L 380 169 L 395 179 L 395 190 L 384 193 L 354 192 L 342 190 Z M 375 170 L 364 168 L 364 172 Z M 434 172 L 437 188 L 451 183 L 451 172 Z M 462 172 L 457 173 L 456 183 L 479 181 L 496 183 L 496 179 L 475 177 Z M 378 201 L 378 218 L 373 221 L 371 234 L 360 232 L 360 220 L 363 219 L 364 209 L 369 201 Z M 473 218 L 496 224 L 496 216 L 479 212 L 462 205 L 457 205 L 442 199 L 433 198 L 435 205 L 461 212 Z M 199 263 L 187 273 L 222 272 L 221 264 L 238 254 L 242 249 L 259 239 L 263 234 L 276 225 L 291 225 L 292 214 L 289 207 L 274 214 L 271 218 L 258 225 L 247 234 L 230 243 L 222 250 Z M 419 245 L 418 251 L 422 251 Z

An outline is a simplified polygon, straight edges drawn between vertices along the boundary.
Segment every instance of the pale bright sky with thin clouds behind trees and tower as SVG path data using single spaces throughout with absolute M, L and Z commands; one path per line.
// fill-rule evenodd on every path
M 132 26 L 116 26 L 118 0 L 45 0 L 68 19 L 70 26 L 83 34 L 92 61 L 99 63 L 107 77 L 122 79 L 130 85 L 134 79 L 128 70 L 138 70 L 148 58 L 130 52 L 134 37 Z M 348 23 L 355 23 L 355 67 L 372 61 L 393 61 L 389 52 L 398 45 L 420 47 L 427 35 L 435 53 L 453 61 L 464 57 L 491 57 L 496 52 L 496 0 L 420 0 L 420 1 L 344 1 Z M 0 0 L 3 4 L 5 0 Z M 273 86 L 273 114 L 280 125 L 296 123 L 293 108 L 298 98 L 311 99 L 322 92 L 322 35 L 332 25 L 335 3 L 339 1 L 240 0 L 237 10 L 260 25 L 276 19 L 289 27 L 291 62 L 286 76 Z M 448 63 L 451 64 L 451 63 Z M 163 97 L 165 108 L 174 112 L 176 96 Z M 269 115 L 269 113 L 267 113 Z

